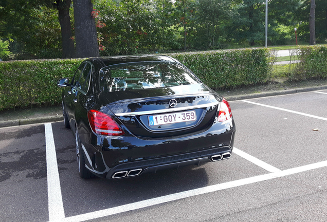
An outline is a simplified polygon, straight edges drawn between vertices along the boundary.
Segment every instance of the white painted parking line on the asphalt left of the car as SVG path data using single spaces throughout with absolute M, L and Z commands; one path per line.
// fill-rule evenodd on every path
M 54 146 L 51 123 L 45 123 L 44 127 L 47 155 L 49 221 L 61 221 L 65 218 L 65 212 L 60 188 L 56 147 Z

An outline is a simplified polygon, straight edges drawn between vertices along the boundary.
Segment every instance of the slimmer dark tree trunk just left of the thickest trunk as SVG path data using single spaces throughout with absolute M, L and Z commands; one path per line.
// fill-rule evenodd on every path
M 59 23 L 61 28 L 62 39 L 62 58 L 74 57 L 74 42 L 72 41 L 71 27 L 70 27 L 70 8 L 71 0 L 57 0 L 55 7 L 59 12 Z

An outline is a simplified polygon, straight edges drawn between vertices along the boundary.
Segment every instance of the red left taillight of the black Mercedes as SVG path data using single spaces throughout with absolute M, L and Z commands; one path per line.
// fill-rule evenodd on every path
M 92 109 L 87 112 L 88 122 L 93 132 L 103 136 L 121 136 L 122 131 L 117 122 L 109 115 Z

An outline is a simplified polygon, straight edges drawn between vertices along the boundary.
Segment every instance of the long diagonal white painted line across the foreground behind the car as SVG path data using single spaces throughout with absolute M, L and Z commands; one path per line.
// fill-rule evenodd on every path
M 234 180 L 226 183 L 220 183 L 204 188 L 198 188 L 194 190 L 189 190 L 189 191 L 184 191 L 180 193 L 175 193 L 175 194 L 170 194 L 167 196 L 161 196 L 161 197 L 156 197 L 153 199 L 148 199 L 148 200 L 142 200 L 139 202 L 134 202 L 132 204 L 127 204 L 127 205 L 122 205 L 114 208 L 109 208 L 105 210 L 100 210 L 100 211 L 95 211 L 95 212 L 90 212 L 86 214 L 80 214 L 76 216 L 71 216 L 71 217 L 66 217 L 62 221 L 69 221 L 69 222 L 79 222 L 79 221 L 85 221 L 85 220 L 90 220 L 90 219 L 96 219 L 100 217 L 105 217 L 105 216 L 110 216 L 118 213 L 123 213 L 123 212 L 128 212 L 132 210 L 137 210 L 137 209 L 142 209 L 154 205 L 159 205 L 163 204 L 165 202 L 170 202 L 174 200 L 179 200 L 187 197 L 192 197 L 196 195 L 201 195 L 201 194 L 206 194 L 206 193 L 211 193 L 215 191 L 220 191 L 220 190 L 225 190 L 229 188 L 234 188 L 234 187 L 240 187 L 246 184 L 251 184 L 251 183 L 256 183 L 260 181 L 265 181 L 265 180 L 270 180 L 270 179 L 275 179 L 283 176 L 288 176 L 296 173 L 301 173 L 309 170 L 314 170 L 322 167 L 327 167 L 327 161 L 322 161 L 318 163 L 313 163 L 309 165 L 304 165 L 303 167 L 297 167 L 289 170 L 283 170 L 275 173 L 269 173 L 269 174 L 264 174 L 260 176 L 254 176 L 250 178 L 245 178 L 245 179 L 240 179 L 240 180 Z

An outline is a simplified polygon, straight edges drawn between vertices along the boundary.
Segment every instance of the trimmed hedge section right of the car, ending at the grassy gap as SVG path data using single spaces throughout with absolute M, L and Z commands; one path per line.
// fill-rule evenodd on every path
M 266 48 L 169 55 L 185 64 L 213 89 L 235 88 L 266 82 L 272 59 Z

